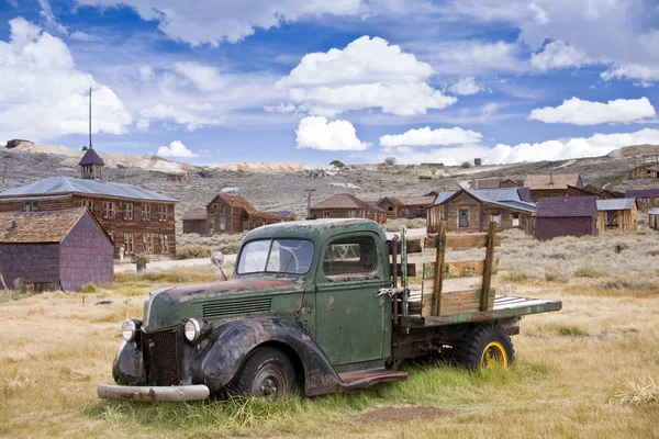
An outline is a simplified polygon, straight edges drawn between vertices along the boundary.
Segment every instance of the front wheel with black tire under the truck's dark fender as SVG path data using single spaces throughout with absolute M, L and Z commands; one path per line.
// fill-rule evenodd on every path
M 297 386 L 295 369 L 289 358 L 275 348 L 256 348 L 231 383 L 233 392 L 268 402 L 290 396 Z

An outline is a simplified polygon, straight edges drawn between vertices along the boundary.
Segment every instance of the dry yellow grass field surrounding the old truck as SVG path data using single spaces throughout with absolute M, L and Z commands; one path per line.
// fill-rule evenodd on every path
M 499 257 L 500 291 L 563 302 L 524 319 L 513 368 L 407 364 L 406 382 L 276 405 L 96 396 L 97 383 L 112 382 L 121 322 L 142 314 L 150 290 L 216 279 L 211 268 L 122 273 L 87 293 L 7 295 L 0 437 L 659 437 L 659 234 L 538 243 L 506 233 Z

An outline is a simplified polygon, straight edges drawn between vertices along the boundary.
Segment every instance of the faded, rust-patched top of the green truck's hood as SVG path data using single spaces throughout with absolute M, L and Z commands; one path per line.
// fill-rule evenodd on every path
M 238 297 L 258 297 L 304 292 L 304 285 L 283 279 L 246 278 L 225 282 L 163 289 L 150 293 L 144 304 L 144 327 L 152 331 L 199 318 L 204 304 Z

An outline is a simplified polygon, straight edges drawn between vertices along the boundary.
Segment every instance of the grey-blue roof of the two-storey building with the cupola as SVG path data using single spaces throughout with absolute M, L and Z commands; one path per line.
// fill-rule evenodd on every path
M 137 188 L 133 184 L 109 183 L 68 177 L 49 177 L 40 181 L 35 181 L 31 184 L 9 189 L 4 192 L 0 192 L 0 199 L 56 195 L 65 193 L 107 195 L 122 199 L 164 201 L 170 203 L 177 201 L 169 196 Z

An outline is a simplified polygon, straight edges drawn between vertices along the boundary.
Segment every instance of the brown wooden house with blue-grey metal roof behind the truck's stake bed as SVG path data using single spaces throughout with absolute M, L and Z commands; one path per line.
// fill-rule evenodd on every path
M 437 233 L 442 221 L 447 222 L 446 232 L 483 232 L 490 222 L 496 223 L 500 230 L 526 230 L 536 211 L 528 198 L 525 188 L 442 192 L 427 211 L 427 230 Z

